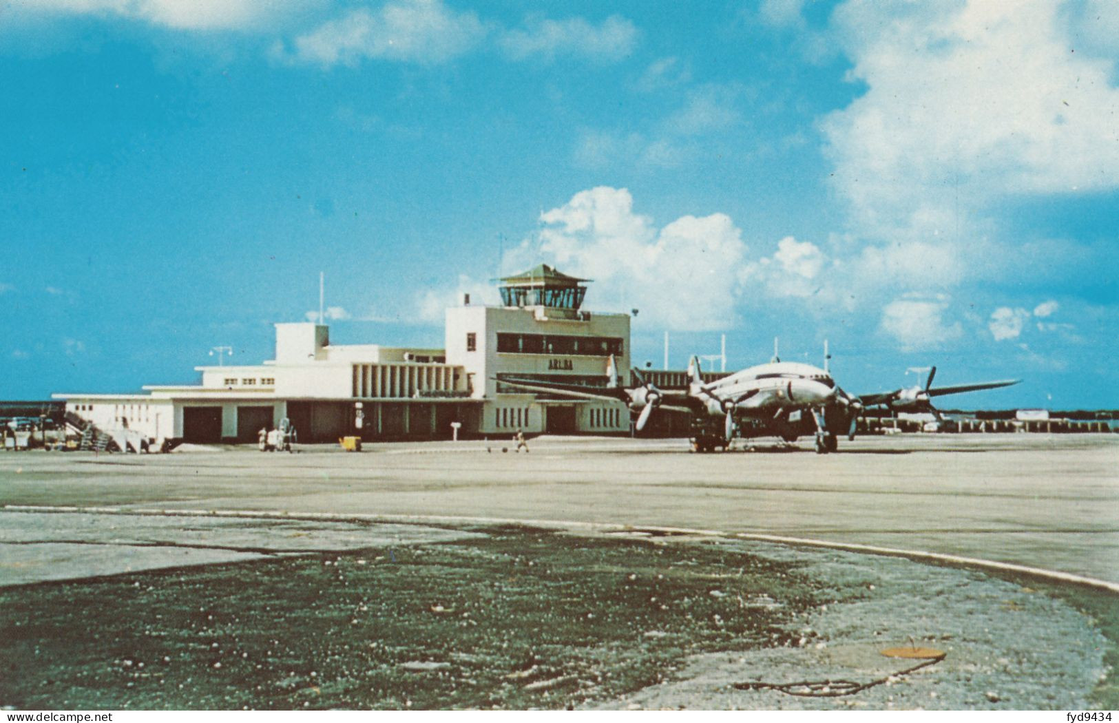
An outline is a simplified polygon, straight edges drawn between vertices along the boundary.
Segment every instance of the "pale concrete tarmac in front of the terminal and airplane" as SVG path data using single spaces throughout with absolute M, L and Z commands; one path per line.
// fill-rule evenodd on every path
M 930 551 L 1119 583 L 1119 435 L 867 436 L 826 456 L 807 441 L 739 444 L 714 454 L 689 453 L 683 440 L 617 438 L 539 438 L 527 454 L 507 440 L 361 453 L 0 453 L 0 530 L 20 544 L 18 554 L 0 545 L 0 584 L 57 579 L 59 542 L 93 536 L 84 515 L 30 533 L 43 527 L 27 506 L 671 526 Z M 54 545 L 39 548 L 54 563 L 34 564 L 36 539 Z M 87 547 L 74 554 L 75 570 L 88 564 Z M 106 547 L 91 572 L 112 571 L 110 556 Z M 128 564 L 164 566 L 134 556 Z

